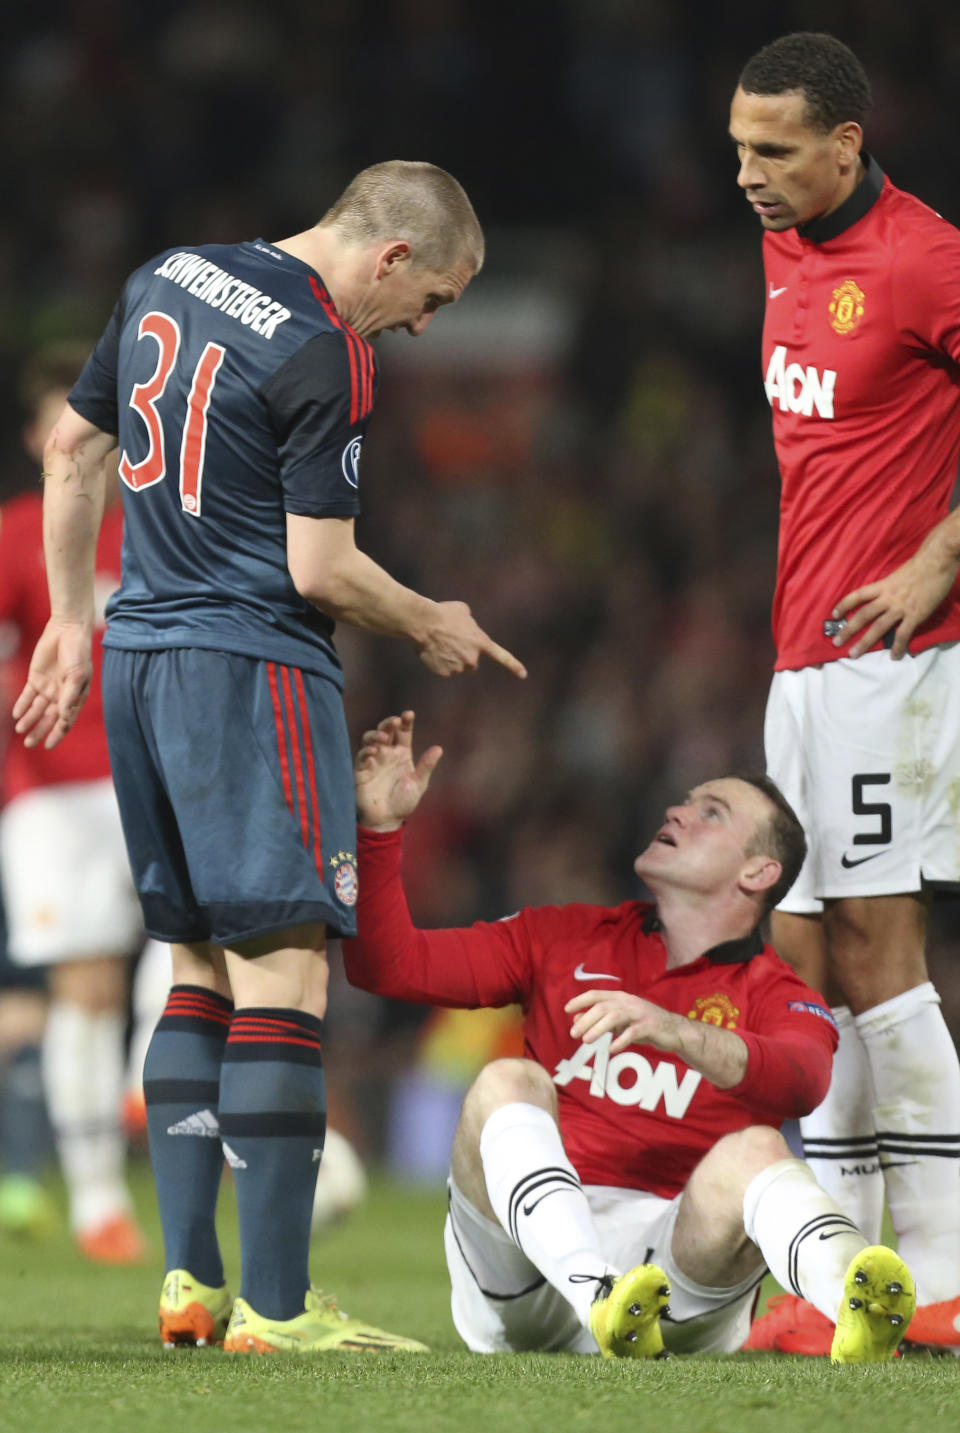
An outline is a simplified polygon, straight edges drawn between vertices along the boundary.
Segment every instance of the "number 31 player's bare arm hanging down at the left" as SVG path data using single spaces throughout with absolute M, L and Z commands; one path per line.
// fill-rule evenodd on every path
M 90 689 L 96 540 L 116 437 L 66 404 L 43 451 L 43 549 L 50 620 L 13 705 L 27 747 L 56 747 Z

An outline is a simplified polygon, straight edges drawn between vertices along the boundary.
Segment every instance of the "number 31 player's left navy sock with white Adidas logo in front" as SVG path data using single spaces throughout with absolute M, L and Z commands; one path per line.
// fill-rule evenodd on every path
M 176 984 L 146 1052 L 143 1096 L 166 1268 L 224 1283 L 216 1195 L 224 1169 L 218 1102 L 234 1006 L 202 986 Z

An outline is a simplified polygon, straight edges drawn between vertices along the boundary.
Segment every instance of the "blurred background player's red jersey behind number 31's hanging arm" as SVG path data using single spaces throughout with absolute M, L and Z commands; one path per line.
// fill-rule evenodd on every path
M 93 681 L 70 739 L 53 751 L 9 741 L 3 757 L 3 800 L 11 801 L 32 787 L 64 781 L 97 781 L 110 775 L 100 701 L 100 638 L 106 599 L 120 585 L 123 510 L 113 503 L 103 514 L 96 550 L 97 629 L 93 636 Z M 13 656 L 7 688 L 16 696 L 27 678 L 30 656 L 50 616 L 47 575 L 43 563 L 43 499 L 23 493 L 0 509 L 0 623 L 10 628 Z

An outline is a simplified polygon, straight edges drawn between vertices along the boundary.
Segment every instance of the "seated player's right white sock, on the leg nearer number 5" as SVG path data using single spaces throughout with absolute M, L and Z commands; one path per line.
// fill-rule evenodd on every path
M 867 1240 L 802 1159 L 778 1159 L 744 1191 L 744 1228 L 784 1288 L 835 1323 L 850 1261 Z

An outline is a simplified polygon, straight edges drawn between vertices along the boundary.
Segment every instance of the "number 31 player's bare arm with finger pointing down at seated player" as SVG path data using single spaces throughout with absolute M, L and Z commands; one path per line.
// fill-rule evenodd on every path
M 352 517 L 287 514 L 287 565 L 302 598 L 365 632 L 411 642 L 437 676 L 473 672 L 481 658 L 526 676 L 522 662 L 474 622 L 466 602 L 433 602 L 404 588 L 354 540 Z

